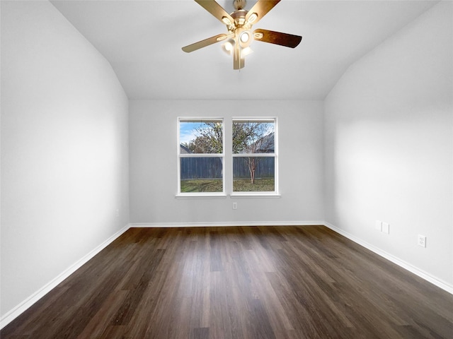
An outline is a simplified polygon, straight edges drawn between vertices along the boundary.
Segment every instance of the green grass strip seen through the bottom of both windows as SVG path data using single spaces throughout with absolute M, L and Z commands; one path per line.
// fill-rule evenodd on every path
M 234 192 L 272 192 L 275 190 L 274 179 L 234 179 Z M 222 179 L 192 179 L 181 180 L 182 193 L 222 192 Z

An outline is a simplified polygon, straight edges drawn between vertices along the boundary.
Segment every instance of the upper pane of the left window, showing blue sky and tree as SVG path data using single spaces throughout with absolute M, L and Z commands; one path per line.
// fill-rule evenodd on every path
M 184 153 L 223 153 L 222 121 L 180 121 L 179 141 Z

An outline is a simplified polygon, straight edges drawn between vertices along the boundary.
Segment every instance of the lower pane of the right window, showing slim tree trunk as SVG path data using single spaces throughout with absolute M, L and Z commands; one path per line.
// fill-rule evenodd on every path
M 233 191 L 275 191 L 275 157 L 234 157 Z

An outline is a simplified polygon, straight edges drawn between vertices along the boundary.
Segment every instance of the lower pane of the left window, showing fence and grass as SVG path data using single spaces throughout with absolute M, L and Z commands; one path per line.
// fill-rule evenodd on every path
M 222 192 L 222 157 L 181 157 L 181 193 Z

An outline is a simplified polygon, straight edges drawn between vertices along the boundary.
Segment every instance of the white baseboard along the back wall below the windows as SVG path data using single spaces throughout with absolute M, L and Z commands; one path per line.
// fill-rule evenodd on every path
M 323 221 L 132 222 L 130 227 L 313 226 Z

